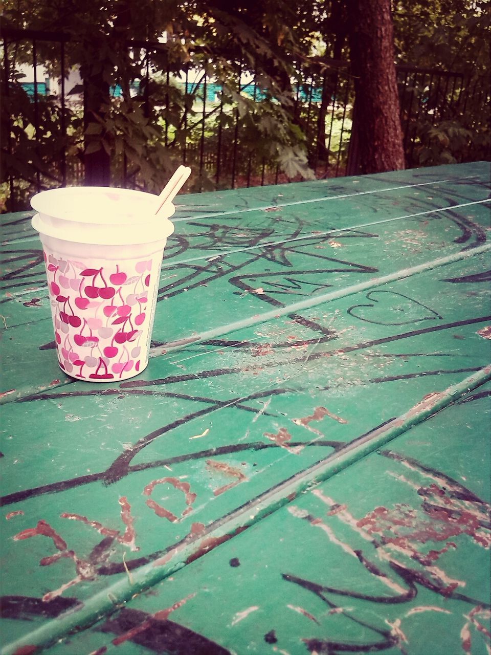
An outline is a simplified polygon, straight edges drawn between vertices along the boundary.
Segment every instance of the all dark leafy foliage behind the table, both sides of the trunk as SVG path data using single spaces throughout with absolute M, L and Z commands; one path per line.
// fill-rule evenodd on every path
M 82 115 L 76 96 L 69 98 L 63 117 L 55 96 L 38 96 L 34 103 L 19 73 L 21 64 L 32 61 L 32 42 L 12 41 L 8 88 L 6 76 L 1 79 L 2 181 L 12 176 L 28 182 L 19 187 L 22 204 L 38 182 L 41 187 L 60 185 L 65 178 L 78 183 L 84 156 L 104 152 L 111 157 L 113 185 L 159 191 L 183 159 L 185 143 L 187 162 L 199 168 L 203 141 L 208 154 L 223 156 L 224 180 L 231 179 L 237 150 L 237 174 L 266 161 L 289 177 L 312 177 L 319 157 L 326 166 L 329 162 L 330 101 L 314 103 L 311 110 L 310 103 L 296 102 L 297 84 L 310 80 L 325 89 L 327 100 L 335 94 L 339 71 L 323 62 L 348 55 L 348 5 L 348 0 L 5 0 L 3 29 L 65 35 L 65 73 L 78 69 L 92 100 Z M 490 19 L 485 5 L 485 0 L 394 0 L 399 62 L 455 69 L 486 90 Z M 156 44 L 148 54 L 141 47 L 145 41 Z M 36 48 L 38 62 L 60 78 L 61 43 L 37 40 Z M 196 70 L 222 90 L 205 107 L 202 87 L 179 84 L 186 71 Z M 251 98 L 240 88 L 241 71 L 253 72 L 260 96 Z M 109 89 L 115 87 L 121 95 L 111 98 Z M 424 85 L 414 84 L 420 105 L 425 93 Z M 410 164 L 459 159 L 463 152 L 465 159 L 481 157 L 489 141 L 484 100 L 471 97 L 465 111 L 451 115 L 407 113 L 414 141 Z M 352 102 L 349 92 L 343 111 L 348 120 Z M 62 120 L 69 126 L 66 136 Z M 346 143 L 342 147 L 345 157 Z M 206 167 L 192 181 L 196 190 L 214 183 Z

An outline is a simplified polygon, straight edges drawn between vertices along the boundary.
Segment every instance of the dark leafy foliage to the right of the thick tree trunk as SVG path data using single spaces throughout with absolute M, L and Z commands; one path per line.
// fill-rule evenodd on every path
M 394 7 L 398 59 L 427 69 L 461 73 L 436 88 L 440 97 L 425 107 L 431 76 L 420 78 L 406 94 L 423 111 L 409 117 L 414 147 L 409 165 L 448 164 L 488 159 L 491 135 L 486 107 L 490 102 L 491 16 L 487 0 L 398 0 Z M 430 91 L 435 94 L 435 84 Z M 452 102 L 450 102 L 452 101 Z M 436 112 L 435 105 L 446 105 Z M 426 109 L 426 110 L 425 110 Z M 408 117 L 407 117 L 408 118 Z

